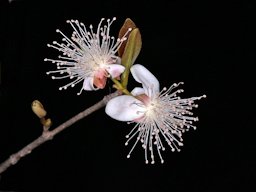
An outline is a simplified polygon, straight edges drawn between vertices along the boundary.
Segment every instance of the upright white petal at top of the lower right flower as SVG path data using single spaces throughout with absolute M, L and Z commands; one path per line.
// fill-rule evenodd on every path
M 142 83 L 145 93 L 151 98 L 159 93 L 159 81 L 157 78 L 143 65 L 136 64 L 131 67 L 133 78 Z

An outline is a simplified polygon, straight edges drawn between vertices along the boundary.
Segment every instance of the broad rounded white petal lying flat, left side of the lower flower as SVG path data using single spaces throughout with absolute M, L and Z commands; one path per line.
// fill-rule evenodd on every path
M 143 116 L 141 101 L 129 95 L 121 95 L 111 99 L 105 108 L 107 115 L 118 121 L 133 121 Z

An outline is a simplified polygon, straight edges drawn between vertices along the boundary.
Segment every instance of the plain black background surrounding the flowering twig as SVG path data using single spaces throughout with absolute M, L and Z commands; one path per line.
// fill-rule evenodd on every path
M 137 146 L 124 146 L 132 125 L 101 109 L 48 141 L 2 174 L 0 190 L 26 191 L 256 191 L 255 1 L 0 1 L 0 161 L 42 131 L 30 104 L 39 99 L 57 126 L 111 91 L 59 91 L 45 73 L 58 52 L 46 46 L 70 35 L 67 19 L 95 27 L 129 17 L 142 34 L 136 61 L 161 87 L 184 81 L 183 97 L 207 95 L 195 115 L 198 129 L 184 136 L 180 153 L 145 165 Z M 133 83 L 131 81 L 131 83 Z M 132 85 L 130 85 L 132 87 Z

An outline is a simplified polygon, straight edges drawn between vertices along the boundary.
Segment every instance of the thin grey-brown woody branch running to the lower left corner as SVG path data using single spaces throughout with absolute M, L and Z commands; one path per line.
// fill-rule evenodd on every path
M 109 95 L 106 95 L 101 101 L 98 103 L 94 104 L 93 106 L 85 109 L 84 111 L 78 113 L 74 117 L 70 118 L 66 122 L 62 123 L 55 129 L 49 131 L 48 129 L 44 129 L 43 133 L 41 136 L 39 136 L 37 139 L 32 141 L 30 144 L 22 148 L 20 151 L 10 155 L 8 159 L 6 159 L 3 163 L 0 164 L 0 174 L 3 173 L 6 169 L 8 169 L 10 166 L 15 165 L 22 157 L 28 155 L 31 153 L 33 149 L 36 147 L 40 146 L 41 144 L 45 143 L 48 140 L 53 139 L 55 135 L 63 131 L 64 129 L 68 128 L 72 124 L 76 123 L 80 119 L 90 115 L 91 113 L 99 110 L 100 108 L 104 107 L 107 102 L 118 96 L 120 93 L 118 91 L 111 93 Z

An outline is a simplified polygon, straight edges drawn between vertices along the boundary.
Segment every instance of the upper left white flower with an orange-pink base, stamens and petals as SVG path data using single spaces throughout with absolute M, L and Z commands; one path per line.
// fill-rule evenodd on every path
M 122 42 L 127 39 L 126 36 L 131 29 L 128 29 L 122 38 L 116 40 L 109 34 L 110 26 L 116 18 L 107 19 L 106 25 L 102 24 L 104 20 L 104 18 L 101 19 L 96 33 L 92 25 L 87 30 L 85 25 L 77 20 L 67 21 L 74 30 L 71 38 L 59 29 L 56 30 L 63 36 L 62 43 L 53 41 L 53 45 L 47 46 L 62 52 L 62 55 L 59 59 L 44 59 L 57 64 L 57 70 L 49 71 L 47 74 L 59 74 L 52 76 L 52 79 L 73 79 L 59 90 L 74 87 L 81 81 L 83 86 L 78 95 L 82 90 L 102 89 L 105 87 L 107 77 L 118 78 L 124 71 L 124 66 L 120 64 L 121 59 L 115 54 Z

